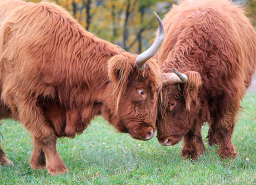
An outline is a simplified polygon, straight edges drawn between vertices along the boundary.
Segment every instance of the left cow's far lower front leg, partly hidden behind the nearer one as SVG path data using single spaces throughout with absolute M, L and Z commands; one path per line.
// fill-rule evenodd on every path
M 34 141 L 33 153 L 30 158 L 30 168 L 33 169 L 44 169 L 46 168 L 46 158 L 44 151 L 38 142 Z

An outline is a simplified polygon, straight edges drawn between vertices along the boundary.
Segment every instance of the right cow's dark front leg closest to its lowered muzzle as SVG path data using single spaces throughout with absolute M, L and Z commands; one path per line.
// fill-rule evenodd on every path
M 195 123 L 191 130 L 184 136 L 183 148 L 181 150 L 183 157 L 197 159 L 200 155 L 204 154 L 205 147 L 201 136 L 202 124 Z

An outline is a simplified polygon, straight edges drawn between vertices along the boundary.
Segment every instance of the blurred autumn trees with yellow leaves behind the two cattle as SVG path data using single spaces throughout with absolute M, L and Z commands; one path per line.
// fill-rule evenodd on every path
M 42 0 L 27 0 L 41 2 Z M 177 0 L 49 0 L 64 7 L 86 30 L 99 38 L 141 53 L 151 46 L 158 28 L 153 12 L 167 14 Z M 256 1 L 233 0 L 246 4 L 246 12 L 256 26 Z

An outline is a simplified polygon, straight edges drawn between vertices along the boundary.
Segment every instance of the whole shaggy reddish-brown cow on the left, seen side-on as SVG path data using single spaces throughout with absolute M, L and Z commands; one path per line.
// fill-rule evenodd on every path
M 159 38 L 137 57 L 55 4 L 0 0 L 1 118 L 20 120 L 31 133 L 31 168 L 66 173 L 57 137 L 75 138 L 95 115 L 134 139 L 154 136 L 162 79 L 150 58 L 163 40 L 158 20 Z M 1 146 L 0 162 L 12 164 Z

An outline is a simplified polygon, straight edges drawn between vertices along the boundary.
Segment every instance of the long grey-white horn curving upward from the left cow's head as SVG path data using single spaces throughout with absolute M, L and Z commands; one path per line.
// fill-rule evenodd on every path
M 157 36 L 157 39 L 155 39 L 155 42 L 152 44 L 152 46 L 149 47 L 149 49 L 142 52 L 142 54 L 136 57 L 136 60 L 135 60 L 136 67 L 139 70 L 144 70 L 146 68 L 146 64 L 145 64 L 146 61 L 149 60 L 157 51 L 159 51 L 159 48 L 163 43 L 163 36 L 165 35 L 163 30 L 163 23 L 155 12 L 154 14 L 155 14 L 155 17 L 157 17 L 157 20 L 159 22 L 159 35 Z

